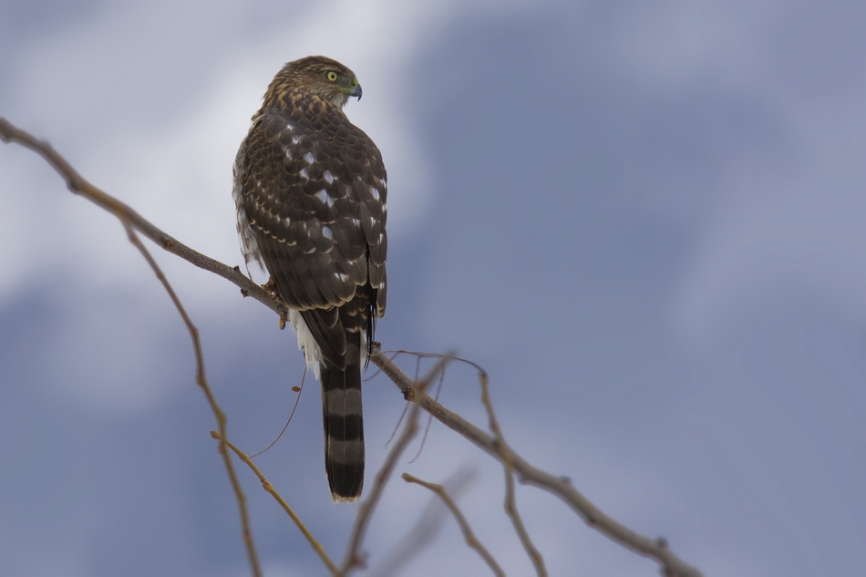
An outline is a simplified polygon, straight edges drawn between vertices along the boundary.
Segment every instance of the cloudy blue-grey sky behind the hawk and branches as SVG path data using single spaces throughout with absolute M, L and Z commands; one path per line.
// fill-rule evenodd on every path
M 706 575 L 851 575 L 866 541 L 866 7 L 856 2 L 75 3 L 0 6 L 0 116 L 181 242 L 241 264 L 232 162 L 285 62 L 334 57 L 388 170 L 385 349 L 490 374 L 505 438 Z M 184 326 L 119 222 L 0 147 L 0 573 L 249 574 Z M 303 357 L 237 288 L 152 250 L 249 453 Z M 256 277 L 256 280 L 263 279 Z M 411 375 L 415 361 L 398 362 Z M 422 367 L 423 368 L 423 367 Z M 367 376 L 373 376 L 368 371 Z M 366 486 L 405 403 L 366 383 Z M 486 426 L 477 379 L 440 400 Z M 256 459 L 342 559 L 317 384 Z M 434 422 L 397 474 L 463 479 L 508 574 L 531 563 L 501 467 Z M 325 569 L 238 466 L 267 575 Z M 392 479 L 366 574 L 487 571 Z M 517 487 L 552 575 L 657 574 Z

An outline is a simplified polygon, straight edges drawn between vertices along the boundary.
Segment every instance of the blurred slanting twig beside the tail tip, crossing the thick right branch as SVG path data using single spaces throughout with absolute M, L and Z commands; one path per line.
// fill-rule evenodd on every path
M 433 366 L 433 368 L 430 369 L 428 376 L 426 376 L 420 383 L 416 384 L 410 382 L 408 385 L 409 389 L 423 393 L 424 389 L 438 376 L 440 371 L 445 369 L 447 364 L 448 357 L 443 357 L 435 366 Z M 408 390 L 404 391 L 404 397 L 407 397 L 407 395 Z M 349 572 L 352 572 L 354 569 L 364 564 L 364 560 L 361 558 L 358 550 L 361 547 L 361 542 L 364 541 L 366 527 L 373 516 L 373 510 L 376 509 L 376 503 L 378 503 L 379 498 L 382 496 L 382 491 L 385 489 L 385 485 L 388 479 L 390 479 L 391 473 L 394 472 L 394 468 L 397 466 L 397 459 L 399 459 L 403 451 L 406 450 L 409 441 L 415 437 L 417 432 L 418 405 L 413 405 L 409 409 L 406 426 L 403 428 L 403 434 L 397 438 L 397 443 L 395 443 L 394 447 L 391 448 L 385 462 L 382 464 L 382 468 L 376 473 L 376 480 L 373 483 L 373 489 L 370 490 L 369 496 L 358 508 L 358 514 L 355 518 L 355 526 L 352 528 L 352 535 L 349 538 L 349 544 L 345 551 L 345 559 L 340 568 L 340 575 L 347 575 Z

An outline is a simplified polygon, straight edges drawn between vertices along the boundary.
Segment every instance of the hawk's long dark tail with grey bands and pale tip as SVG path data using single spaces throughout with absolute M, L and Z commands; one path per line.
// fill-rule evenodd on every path
M 364 485 L 360 333 L 346 334 L 345 370 L 322 361 L 325 472 L 335 503 L 352 503 Z

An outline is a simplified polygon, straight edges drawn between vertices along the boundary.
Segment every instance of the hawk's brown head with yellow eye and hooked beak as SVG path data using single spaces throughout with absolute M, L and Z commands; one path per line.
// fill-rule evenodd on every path
M 337 108 L 343 108 L 350 96 L 361 99 L 361 85 L 355 73 L 326 57 L 305 57 L 285 65 L 268 87 L 265 105 L 269 101 L 282 101 L 294 91 L 312 92 Z

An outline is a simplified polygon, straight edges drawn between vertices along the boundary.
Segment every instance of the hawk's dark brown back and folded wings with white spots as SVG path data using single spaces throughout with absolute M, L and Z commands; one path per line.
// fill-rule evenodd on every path
M 379 150 L 339 108 L 325 106 L 312 121 L 268 112 L 253 123 L 235 171 L 256 256 L 284 302 L 304 312 L 325 357 L 339 359 L 345 330 L 335 307 L 353 302 L 385 313 L 387 175 Z M 359 287 L 366 298 L 354 303 Z

